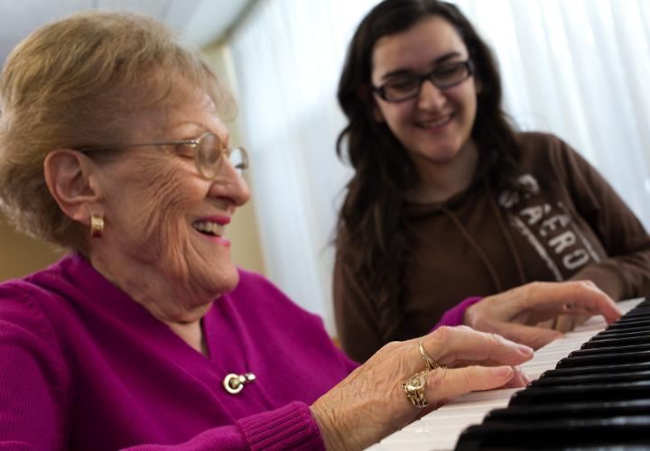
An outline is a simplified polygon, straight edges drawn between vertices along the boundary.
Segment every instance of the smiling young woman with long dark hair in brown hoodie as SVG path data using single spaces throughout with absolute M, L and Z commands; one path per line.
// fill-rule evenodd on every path
M 337 151 L 355 175 L 334 274 L 339 336 L 358 361 L 462 299 L 531 281 L 650 292 L 636 216 L 566 143 L 515 132 L 501 97 L 496 60 L 456 6 L 386 0 L 359 24 L 339 81 Z

